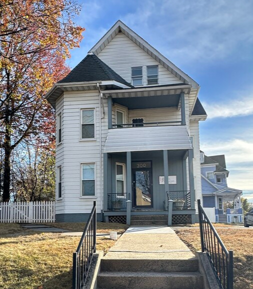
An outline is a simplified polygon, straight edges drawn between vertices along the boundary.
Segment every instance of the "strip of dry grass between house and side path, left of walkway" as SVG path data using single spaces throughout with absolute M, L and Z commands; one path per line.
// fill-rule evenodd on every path
M 51 226 L 69 230 L 71 232 L 81 232 L 86 223 L 50 223 Z M 98 233 L 108 233 L 110 231 L 118 231 L 123 233 L 129 226 L 125 224 L 119 223 L 104 223 L 97 222 L 96 223 L 96 231 Z

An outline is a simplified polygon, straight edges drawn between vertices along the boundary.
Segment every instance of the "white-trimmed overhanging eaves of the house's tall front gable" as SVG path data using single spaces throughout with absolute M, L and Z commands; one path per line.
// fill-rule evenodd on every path
M 164 57 L 154 47 L 147 43 L 143 38 L 126 26 L 122 21 L 118 20 L 103 36 L 102 38 L 90 49 L 90 52 L 98 55 L 98 53 L 115 37 L 119 32 L 124 33 L 130 40 L 147 52 L 151 57 L 158 61 L 167 70 L 173 73 L 183 83 L 191 84 L 193 88 L 199 88 L 196 81 L 190 78 L 186 73 L 179 69 L 175 64 Z

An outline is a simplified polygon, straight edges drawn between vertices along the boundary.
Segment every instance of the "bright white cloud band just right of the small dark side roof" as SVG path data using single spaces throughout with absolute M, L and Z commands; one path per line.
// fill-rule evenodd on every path
M 241 93 L 243 95 L 244 93 Z M 245 94 L 244 94 L 245 95 Z M 248 94 L 246 94 L 248 95 Z M 204 109 L 208 115 L 208 119 L 215 117 L 233 117 L 253 114 L 253 95 L 247 97 L 238 97 L 222 102 L 203 102 Z

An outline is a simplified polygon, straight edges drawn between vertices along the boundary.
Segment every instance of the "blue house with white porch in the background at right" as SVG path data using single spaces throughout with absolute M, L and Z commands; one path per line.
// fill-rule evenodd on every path
M 242 222 L 242 191 L 227 186 L 224 154 L 207 156 L 200 150 L 200 166 L 203 207 L 214 208 L 215 222 Z

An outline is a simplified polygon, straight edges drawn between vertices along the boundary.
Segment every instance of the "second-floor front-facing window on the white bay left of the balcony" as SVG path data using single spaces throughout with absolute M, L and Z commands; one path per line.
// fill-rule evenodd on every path
M 81 138 L 95 138 L 94 109 L 81 109 Z

